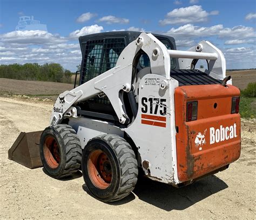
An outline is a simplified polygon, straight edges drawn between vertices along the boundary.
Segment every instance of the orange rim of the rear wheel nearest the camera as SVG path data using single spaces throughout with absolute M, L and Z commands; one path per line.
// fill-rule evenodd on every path
M 93 151 L 87 162 L 87 170 L 90 180 L 99 189 L 109 187 L 112 180 L 112 167 L 109 157 L 101 151 Z

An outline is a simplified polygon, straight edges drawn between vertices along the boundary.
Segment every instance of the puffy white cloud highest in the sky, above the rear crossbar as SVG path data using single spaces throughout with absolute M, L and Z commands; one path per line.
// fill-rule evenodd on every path
M 186 8 L 173 9 L 167 13 L 166 18 L 159 20 L 160 25 L 185 24 L 207 22 L 208 16 L 218 15 L 218 11 L 207 12 L 201 5 L 192 5 Z

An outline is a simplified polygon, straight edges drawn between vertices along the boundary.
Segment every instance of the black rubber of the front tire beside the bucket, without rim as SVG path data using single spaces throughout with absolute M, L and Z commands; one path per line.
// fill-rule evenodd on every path
M 44 153 L 46 138 L 54 138 L 59 146 L 59 162 L 56 168 L 49 166 Z M 40 156 L 45 171 L 53 178 L 60 179 L 76 173 L 81 165 L 82 148 L 76 131 L 66 124 L 46 127 L 41 134 Z

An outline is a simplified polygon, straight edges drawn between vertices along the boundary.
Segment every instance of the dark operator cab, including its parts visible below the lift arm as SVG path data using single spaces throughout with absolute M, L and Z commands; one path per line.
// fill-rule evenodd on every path
M 120 53 L 122 53 L 123 49 L 129 45 L 130 42 L 136 40 L 140 33 L 141 32 L 135 31 L 115 31 L 79 37 L 82 50 L 79 86 L 116 66 Z M 160 34 L 153 35 L 160 40 L 167 49 L 176 49 L 174 38 Z M 178 60 L 175 58 L 170 59 L 171 69 L 179 68 Z M 139 51 L 136 58 L 134 58 L 134 63 L 137 63 L 136 74 L 143 68 L 150 67 L 150 59 L 143 51 Z M 125 102 L 127 100 L 126 95 L 127 94 L 124 94 Z M 88 111 L 100 113 L 101 115 L 97 114 L 99 118 L 107 115 L 116 115 L 109 99 L 104 94 L 102 96 L 97 95 L 90 100 L 79 103 L 79 108 L 82 110 L 80 112 L 83 113 L 88 113 Z M 128 106 L 128 115 L 130 115 L 129 112 Z M 93 116 L 96 116 L 96 114 L 93 114 Z M 114 119 L 114 117 L 111 119 Z

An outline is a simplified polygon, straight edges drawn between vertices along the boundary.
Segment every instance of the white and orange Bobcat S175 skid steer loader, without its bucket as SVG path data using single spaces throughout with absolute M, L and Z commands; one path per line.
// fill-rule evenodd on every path
M 217 47 L 178 51 L 172 37 L 129 31 L 79 42 L 79 86 L 58 96 L 35 145 L 50 176 L 81 167 L 91 194 L 112 202 L 134 189 L 138 169 L 180 187 L 239 158 L 240 91 Z

